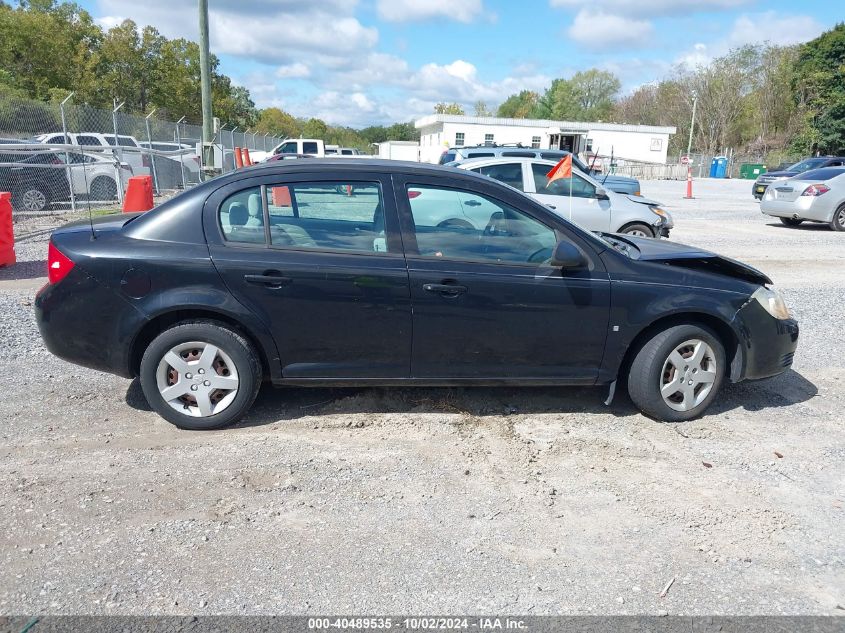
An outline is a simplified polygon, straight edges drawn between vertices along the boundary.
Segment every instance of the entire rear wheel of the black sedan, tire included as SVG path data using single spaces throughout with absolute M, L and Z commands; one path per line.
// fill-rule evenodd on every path
M 140 378 L 147 402 L 168 422 L 218 429 L 249 411 L 261 387 L 261 362 L 252 344 L 229 327 L 184 321 L 149 344 Z

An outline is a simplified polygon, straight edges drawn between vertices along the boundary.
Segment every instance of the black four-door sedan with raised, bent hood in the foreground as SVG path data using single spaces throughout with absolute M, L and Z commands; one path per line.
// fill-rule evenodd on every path
M 140 377 L 191 429 L 240 419 L 265 380 L 611 396 L 622 381 L 647 415 L 688 420 L 724 380 L 785 371 L 798 340 L 749 266 L 596 235 L 493 179 L 398 161 L 238 170 L 146 214 L 67 225 L 48 265 L 47 347 Z

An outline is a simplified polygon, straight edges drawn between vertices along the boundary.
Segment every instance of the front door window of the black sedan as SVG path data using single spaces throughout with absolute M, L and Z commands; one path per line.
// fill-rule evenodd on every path
M 426 259 L 538 265 L 554 230 L 510 205 L 469 191 L 409 185 L 417 248 Z

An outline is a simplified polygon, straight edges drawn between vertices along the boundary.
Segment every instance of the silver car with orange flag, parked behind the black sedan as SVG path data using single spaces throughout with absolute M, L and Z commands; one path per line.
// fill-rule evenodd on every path
M 590 231 L 627 233 L 642 237 L 669 237 L 674 227 L 672 215 L 659 202 L 640 196 L 607 191 L 598 181 L 572 170 L 572 217 L 569 217 L 569 179 L 548 182 L 546 174 L 556 163 L 532 158 L 475 158 L 458 163 L 468 169 L 524 191 L 549 206 L 559 216 Z M 441 212 L 449 207 L 442 206 Z M 458 209 L 456 208 L 456 211 Z M 463 209 L 452 222 L 471 222 L 483 227 L 490 217 L 485 207 Z

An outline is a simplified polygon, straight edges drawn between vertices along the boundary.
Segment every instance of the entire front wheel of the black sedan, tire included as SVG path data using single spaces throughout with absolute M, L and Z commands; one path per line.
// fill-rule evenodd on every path
M 718 336 L 702 326 L 677 325 L 656 334 L 637 352 L 628 372 L 628 394 L 650 418 L 663 422 L 692 420 L 713 402 L 725 369 L 725 348 Z M 712 381 L 697 380 L 701 377 Z M 689 385 L 690 381 L 695 382 Z M 677 387 L 674 391 L 673 386 Z

